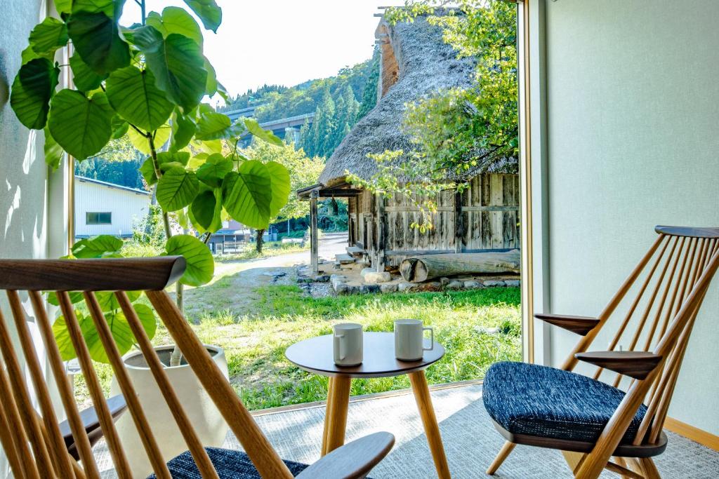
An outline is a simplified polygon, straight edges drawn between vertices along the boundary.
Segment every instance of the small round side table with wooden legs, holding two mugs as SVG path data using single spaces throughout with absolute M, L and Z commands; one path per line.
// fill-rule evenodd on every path
M 421 360 L 400 361 L 395 358 L 395 339 L 392 332 L 365 332 L 362 342 L 364 357 L 359 366 L 336 366 L 333 357 L 332 335 L 300 341 L 285 351 L 288 360 L 299 368 L 329 377 L 327 409 L 322 435 L 322 455 L 344 445 L 349 387 L 352 385 L 352 378 L 385 378 L 407 374 L 417 401 L 437 475 L 441 479 L 449 478 L 449 466 L 429 396 L 427 378 L 424 376 L 424 370 L 444 356 L 444 348 L 439 343 L 434 343 L 432 350 L 424 351 Z

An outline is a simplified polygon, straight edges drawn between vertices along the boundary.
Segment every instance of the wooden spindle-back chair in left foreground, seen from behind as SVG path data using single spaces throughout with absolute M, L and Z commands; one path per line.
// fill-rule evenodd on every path
M 151 259 L 78 259 L 78 260 L 0 260 L 0 289 L 5 289 L 17 329 L 20 350 L 11 340 L 11 327 L 0 312 L 0 443 L 15 478 L 91 478 L 100 473 L 91 451 L 90 440 L 60 359 L 58 345 L 52 335 L 42 291 L 55 291 L 68 325 L 73 347 L 85 376 L 100 427 L 120 478 L 130 478 L 125 455 L 114 428 L 111 408 L 104 398 L 88 347 L 73 312 L 68 292 L 83 292 L 97 334 L 107 353 L 127 409 L 147 451 L 153 477 L 157 478 L 364 478 L 387 455 L 394 443 L 392 434 L 377 432 L 339 447 L 318 462 L 307 466 L 283 461 L 262 434 L 247 409 L 242 405 L 229 381 L 211 360 L 188 322 L 175 307 L 165 287 L 175 282 L 185 269 L 180 256 Z M 32 343 L 27 318 L 19 291 L 27 291 L 35 321 L 45 346 L 52 376 L 68 417 L 80 462 L 69 453 L 63 432 L 48 393 L 48 384 Z M 127 291 L 145 291 L 162 322 L 168 328 L 183 354 L 246 451 L 205 448 L 183 411 L 160 359 L 129 302 Z M 124 363 L 112 340 L 109 325 L 101 313 L 94 292 L 112 291 L 132 329 L 135 339 L 152 371 L 165 401 L 177 422 L 188 452 L 165 462 L 157 446 L 157 438 L 147 424 L 137 394 L 127 376 Z M 30 380 L 20 366 L 20 355 L 27 362 Z M 40 412 L 31 401 L 35 392 Z

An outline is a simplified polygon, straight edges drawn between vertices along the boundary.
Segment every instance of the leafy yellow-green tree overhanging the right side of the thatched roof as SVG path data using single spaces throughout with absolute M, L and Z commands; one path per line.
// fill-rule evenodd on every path
M 461 191 L 464 183 L 448 180 L 466 172 L 482 172 L 494 162 L 518 154 L 516 6 L 499 0 L 462 0 L 462 14 L 444 11 L 436 0 L 408 0 L 388 9 L 390 24 L 413 22 L 419 15 L 441 27 L 444 42 L 458 57 L 477 60 L 470 88 L 435 92 L 407 106 L 403 130 L 415 146 L 412 152 L 389 151 L 372 155 L 377 175 L 365 180 L 350 175 L 355 184 L 385 195 L 401 193 L 423 213 L 421 231 L 432 228 L 428 214 L 436 210 L 441 190 Z M 408 155 L 408 161 L 394 159 Z M 402 182 L 398 178 L 404 178 Z

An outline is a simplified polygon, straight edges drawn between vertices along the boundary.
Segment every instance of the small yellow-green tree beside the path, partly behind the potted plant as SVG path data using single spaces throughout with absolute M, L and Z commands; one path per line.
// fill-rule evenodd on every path
M 294 192 L 316 184 L 324 168 L 324 161 L 320 157 L 308 157 L 303 149 L 295 149 L 293 144 L 275 148 L 265 141 L 254 141 L 249 148 L 242 151 L 242 154 L 265 164 L 281 164 L 288 172 L 290 196 L 287 203 L 273 215 L 273 218 L 270 218 L 270 223 L 303 218 L 309 214 L 309 203 L 301 201 Z M 258 228 L 256 231 L 255 248 L 258 253 L 262 253 L 262 235 L 264 233 L 265 228 Z

